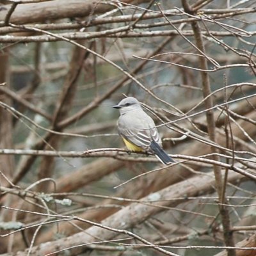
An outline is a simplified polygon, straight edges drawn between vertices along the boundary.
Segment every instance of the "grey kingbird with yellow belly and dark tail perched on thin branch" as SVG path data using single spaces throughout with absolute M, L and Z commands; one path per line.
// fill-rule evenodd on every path
M 113 108 L 120 111 L 118 132 L 129 150 L 150 152 L 164 164 L 175 163 L 163 150 L 154 120 L 143 111 L 137 99 L 127 97 Z

